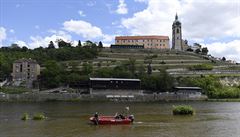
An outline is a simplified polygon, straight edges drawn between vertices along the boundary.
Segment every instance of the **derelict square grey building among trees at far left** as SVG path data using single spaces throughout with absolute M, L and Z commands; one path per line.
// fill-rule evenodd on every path
M 40 75 L 40 66 L 35 60 L 23 58 L 13 63 L 13 85 L 21 84 L 31 88 L 38 75 Z

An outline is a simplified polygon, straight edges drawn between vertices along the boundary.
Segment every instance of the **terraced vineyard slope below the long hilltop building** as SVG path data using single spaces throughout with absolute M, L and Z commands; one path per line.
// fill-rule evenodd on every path
M 92 64 L 96 70 L 104 67 L 116 67 L 129 59 L 136 61 L 136 66 L 144 66 L 147 68 L 151 64 L 154 73 L 158 73 L 160 69 L 164 68 L 173 75 L 195 75 L 195 74 L 221 74 L 219 71 L 225 73 L 228 71 L 240 74 L 240 66 L 234 65 L 225 61 L 219 61 L 214 58 L 200 55 L 192 52 L 179 52 L 170 50 L 158 49 L 110 49 L 104 48 L 99 53 L 98 57 L 93 60 L 74 61 L 81 69 L 84 63 Z M 188 68 L 198 64 L 211 64 L 214 69 L 211 71 L 193 72 Z M 234 68 L 233 70 L 228 68 Z

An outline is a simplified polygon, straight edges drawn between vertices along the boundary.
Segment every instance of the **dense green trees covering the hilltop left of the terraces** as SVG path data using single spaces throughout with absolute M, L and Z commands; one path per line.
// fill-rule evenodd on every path
M 63 40 L 57 40 L 57 42 L 59 48 L 55 48 L 53 42 L 50 42 L 47 48 L 20 48 L 17 44 L 12 44 L 11 47 L 0 48 L 0 78 L 10 77 L 13 62 L 21 58 L 35 59 L 41 66 L 44 66 L 49 60 L 59 62 L 93 59 L 98 55 L 101 48 L 101 43 L 100 46 L 97 46 L 97 44 L 91 41 L 86 41 L 84 46 L 81 46 L 80 43 L 76 47 L 72 43 Z

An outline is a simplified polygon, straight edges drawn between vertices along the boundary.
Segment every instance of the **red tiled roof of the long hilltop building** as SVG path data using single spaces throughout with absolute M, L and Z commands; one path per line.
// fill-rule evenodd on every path
M 141 40 L 141 39 L 159 39 L 159 40 L 169 40 L 168 36 L 116 36 L 115 40 Z

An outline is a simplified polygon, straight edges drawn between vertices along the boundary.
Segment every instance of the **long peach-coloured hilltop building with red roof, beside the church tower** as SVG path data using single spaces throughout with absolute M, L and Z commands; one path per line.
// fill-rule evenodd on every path
M 115 37 L 115 45 L 121 48 L 155 48 L 155 49 L 169 49 L 169 37 L 168 36 L 117 36 Z

